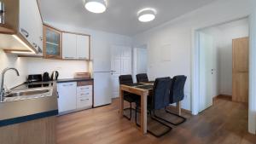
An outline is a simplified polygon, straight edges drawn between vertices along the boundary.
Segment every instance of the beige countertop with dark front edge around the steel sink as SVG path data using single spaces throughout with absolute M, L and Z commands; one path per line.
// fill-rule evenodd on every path
M 52 117 L 58 114 L 57 90 L 55 82 L 39 82 L 42 87 L 53 89 L 51 96 L 31 98 L 20 101 L 5 101 L 0 103 L 0 127 L 19 124 L 38 118 Z M 21 84 L 13 90 L 35 89 L 30 84 Z

